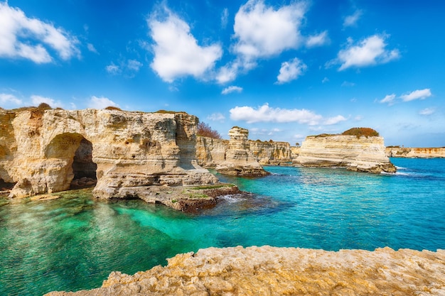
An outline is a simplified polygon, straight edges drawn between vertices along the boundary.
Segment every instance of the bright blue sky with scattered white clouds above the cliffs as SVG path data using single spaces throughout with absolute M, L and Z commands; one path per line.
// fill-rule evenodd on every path
M 119 106 L 292 145 L 445 146 L 445 1 L 0 0 L 0 106 Z

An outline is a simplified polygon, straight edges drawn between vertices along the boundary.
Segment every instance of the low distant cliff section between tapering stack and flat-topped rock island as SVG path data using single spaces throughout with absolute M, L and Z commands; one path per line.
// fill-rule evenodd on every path
M 261 165 L 286 165 L 292 162 L 288 142 L 249 141 L 249 149 Z

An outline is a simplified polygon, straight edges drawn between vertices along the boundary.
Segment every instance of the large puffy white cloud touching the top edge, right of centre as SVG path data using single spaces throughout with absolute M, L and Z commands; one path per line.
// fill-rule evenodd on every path
M 304 41 L 299 26 L 305 12 L 304 2 L 274 10 L 265 6 L 263 0 L 247 1 L 235 16 L 233 29 L 237 43 L 233 50 L 249 62 L 298 48 Z

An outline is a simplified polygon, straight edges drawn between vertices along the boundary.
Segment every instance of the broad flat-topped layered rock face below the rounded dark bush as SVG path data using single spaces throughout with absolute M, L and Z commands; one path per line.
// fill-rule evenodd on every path
M 303 141 L 296 160 L 308 167 L 345 167 L 374 173 L 396 170 L 385 155 L 380 136 L 309 136 Z

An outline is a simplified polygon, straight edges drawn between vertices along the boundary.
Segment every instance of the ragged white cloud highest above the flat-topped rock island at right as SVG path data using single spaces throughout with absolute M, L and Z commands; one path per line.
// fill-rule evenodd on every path
M 349 67 L 366 67 L 384 64 L 400 57 L 399 50 L 386 50 L 385 35 L 372 35 L 353 45 L 349 40 L 348 46 L 340 50 L 333 63 L 340 63 L 339 71 Z

